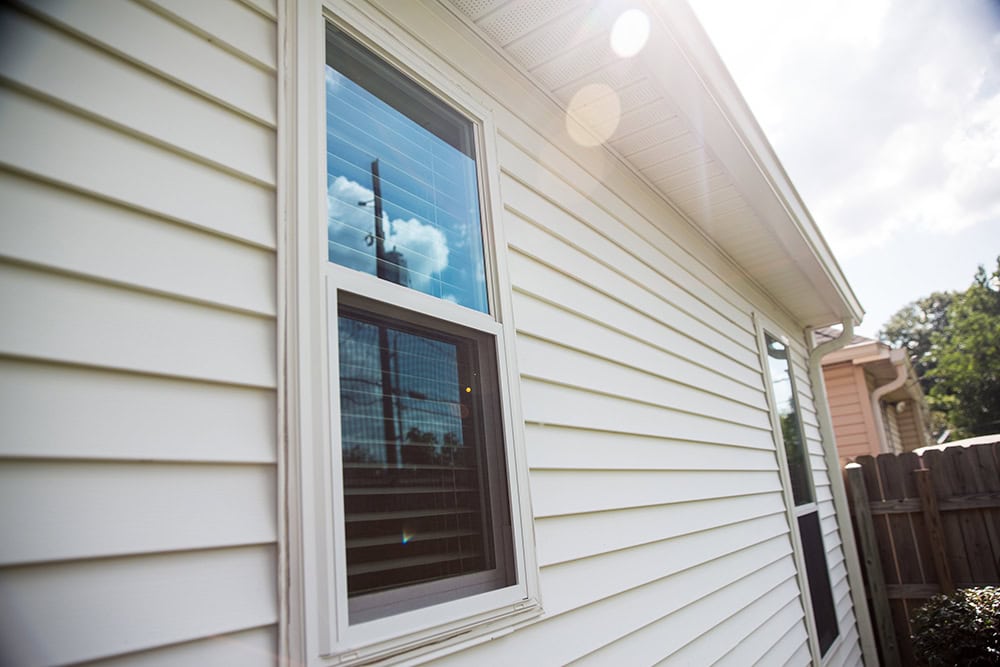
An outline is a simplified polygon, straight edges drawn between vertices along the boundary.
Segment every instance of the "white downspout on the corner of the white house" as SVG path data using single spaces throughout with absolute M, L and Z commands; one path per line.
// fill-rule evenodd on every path
M 858 547 L 854 541 L 851 510 L 847 504 L 847 489 L 844 487 L 844 476 L 840 472 L 840 458 L 837 456 L 837 445 L 833 435 L 833 419 L 830 416 L 830 404 L 827 401 L 826 385 L 823 382 L 823 357 L 846 346 L 854 337 L 854 321 L 850 318 L 845 319 L 843 326 L 844 331 L 840 336 L 814 347 L 809 352 L 809 383 L 812 385 L 815 397 L 816 416 L 819 420 L 819 432 L 823 440 L 823 454 L 826 457 L 826 469 L 830 477 L 830 492 L 833 495 L 833 506 L 837 511 L 837 529 L 840 531 L 840 542 L 844 550 L 844 564 L 847 567 L 847 581 L 851 587 L 854 618 L 858 624 L 861 654 L 866 665 L 878 665 L 878 649 L 875 646 L 875 633 L 872 630 L 872 621 L 868 614 L 868 600 L 865 597 L 861 560 L 858 558 Z M 812 340 L 811 333 L 811 331 L 806 332 L 807 340 Z

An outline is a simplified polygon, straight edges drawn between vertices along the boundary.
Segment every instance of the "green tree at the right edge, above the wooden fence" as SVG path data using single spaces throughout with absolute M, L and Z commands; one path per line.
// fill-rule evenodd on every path
M 932 407 L 947 414 L 958 437 L 1000 432 L 1000 257 L 955 296 L 931 347 Z

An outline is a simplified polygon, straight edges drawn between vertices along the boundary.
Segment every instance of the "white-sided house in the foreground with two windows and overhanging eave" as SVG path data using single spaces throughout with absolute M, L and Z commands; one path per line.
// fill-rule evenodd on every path
M 0 9 L 0 662 L 875 664 L 862 310 L 635 6 Z

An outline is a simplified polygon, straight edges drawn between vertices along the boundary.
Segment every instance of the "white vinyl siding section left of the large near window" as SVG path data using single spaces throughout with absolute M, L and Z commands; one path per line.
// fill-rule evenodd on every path
M 4 664 L 274 663 L 271 12 L 0 9 Z

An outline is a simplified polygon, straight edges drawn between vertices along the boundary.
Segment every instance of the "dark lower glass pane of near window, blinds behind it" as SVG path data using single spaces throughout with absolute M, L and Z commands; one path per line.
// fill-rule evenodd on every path
M 497 568 L 479 342 L 346 307 L 338 328 L 348 597 Z

